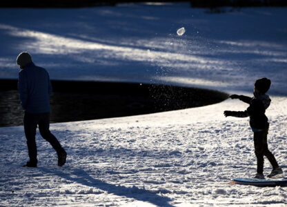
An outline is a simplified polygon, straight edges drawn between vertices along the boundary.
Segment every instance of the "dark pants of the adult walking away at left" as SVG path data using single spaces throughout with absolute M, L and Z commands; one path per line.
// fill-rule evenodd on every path
M 37 146 L 36 146 L 36 130 L 39 125 L 39 131 L 43 139 L 46 139 L 52 147 L 59 152 L 63 150 L 57 138 L 50 132 L 50 113 L 32 114 L 25 112 L 24 130 L 27 139 L 28 153 L 30 161 L 37 164 Z

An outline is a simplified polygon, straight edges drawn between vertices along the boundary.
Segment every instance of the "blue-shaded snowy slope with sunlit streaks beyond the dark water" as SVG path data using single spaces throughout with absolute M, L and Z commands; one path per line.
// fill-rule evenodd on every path
M 286 82 L 286 8 L 206 14 L 188 4 L 0 12 L 0 76 L 29 50 L 52 79 L 168 82 L 246 90 L 262 73 Z M 177 29 L 186 33 L 177 35 Z M 252 69 L 252 70 L 251 70 Z

